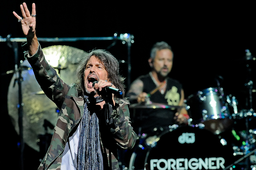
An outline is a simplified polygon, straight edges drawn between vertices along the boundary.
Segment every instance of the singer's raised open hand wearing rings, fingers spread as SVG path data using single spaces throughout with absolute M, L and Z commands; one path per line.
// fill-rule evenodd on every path
M 13 11 L 12 13 L 21 22 L 23 33 L 27 39 L 32 39 L 36 35 L 36 4 L 32 4 L 31 15 L 25 2 L 20 5 L 20 10 L 22 19 L 16 12 Z

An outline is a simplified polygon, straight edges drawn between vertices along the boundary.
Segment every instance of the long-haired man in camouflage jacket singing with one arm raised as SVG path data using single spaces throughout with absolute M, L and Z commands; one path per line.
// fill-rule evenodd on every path
M 31 13 L 26 3 L 20 9 L 21 15 L 13 14 L 27 38 L 25 57 L 45 95 L 60 109 L 51 145 L 38 169 L 119 169 L 117 149 L 131 149 L 137 135 L 124 93 L 100 93 L 106 86 L 124 92 L 117 59 L 105 50 L 92 50 L 81 59 L 76 82 L 66 84 L 47 63 L 37 41 L 36 5 L 32 4 Z M 98 83 L 92 86 L 94 81 Z

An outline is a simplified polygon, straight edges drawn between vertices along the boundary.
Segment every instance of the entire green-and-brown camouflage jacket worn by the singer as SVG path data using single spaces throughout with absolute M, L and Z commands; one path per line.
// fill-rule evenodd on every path
M 79 125 L 84 113 L 84 99 L 78 95 L 74 84 L 68 85 L 59 78 L 55 69 L 45 60 L 40 45 L 36 54 L 31 57 L 25 54 L 25 57 L 32 66 L 36 80 L 45 95 L 60 109 L 50 147 L 38 169 L 60 170 L 62 153 L 69 134 L 74 127 Z M 104 127 L 100 124 L 103 167 L 113 170 L 119 169 L 117 149 L 131 149 L 137 138 L 131 127 L 129 103 L 123 99 L 115 101 L 116 109 L 111 114 L 112 126 L 105 124 L 106 127 Z

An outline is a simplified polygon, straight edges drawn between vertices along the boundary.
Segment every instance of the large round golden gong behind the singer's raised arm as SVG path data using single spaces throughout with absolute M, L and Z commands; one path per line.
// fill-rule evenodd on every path
M 77 63 L 82 59 L 86 52 L 70 46 L 55 45 L 43 49 L 45 59 L 56 68 L 60 78 L 71 84 L 76 80 Z M 44 128 L 44 120 L 56 125 L 58 119 L 57 106 L 45 96 L 38 85 L 33 70 L 27 60 L 21 63 L 21 66 L 27 66 L 29 69 L 23 70 L 21 75 L 22 105 L 23 105 L 23 139 L 24 142 L 36 151 L 40 151 L 39 135 L 53 134 L 51 126 Z M 8 89 L 7 104 L 8 114 L 12 119 L 15 131 L 19 134 L 18 125 L 18 84 L 15 83 L 15 75 Z

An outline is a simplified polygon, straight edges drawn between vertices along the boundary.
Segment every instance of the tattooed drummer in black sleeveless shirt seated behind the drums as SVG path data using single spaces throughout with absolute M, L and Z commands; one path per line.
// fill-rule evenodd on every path
M 128 90 L 131 104 L 151 104 L 161 103 L 172 106 L 184 106 L 184 91 L 182 85 L 170 77 L 173 62 L 173 52 L 171 46 L 166 42 L 157 42 L 151 49 L 150 58 L 148 59 L 151 71 L 138 77 L 132 82 Z M 172 124 L 187 124 L 188 112 L 185 107 L 178 110 L 170 111 L 156 110 L 146 111 L 148 114 L 148 126 L 168 126 Z M 167 118 L 167 119 L 166 119 Z M 144 120 L 143 120 L 144 121 Z M 145 121 L 144 121 L 145 122 Z M 146 126 L 146 127 L 148 127 Z

